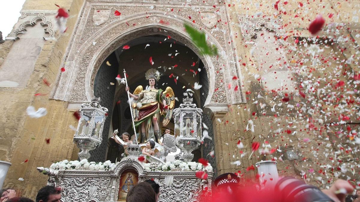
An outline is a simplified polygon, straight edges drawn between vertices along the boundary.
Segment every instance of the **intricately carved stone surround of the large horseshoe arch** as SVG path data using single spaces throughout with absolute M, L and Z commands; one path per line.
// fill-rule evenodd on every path
M 89 101 L 94 94 L 94 78 L 102 62 L 118 47 L 141 36 L 170 35 L 198 54 L 199 50 L 192 44 L 183 28 L 183 24 L 188 23 L 206 32 L 208 42 L 214 44 L 220 53 L 219 57 L 199 56 L 207 70 L 210 82 L 205 105 L 246 102 L 241 90 L 242 82 L 240 79 L 231 79 L 234 75 L 238 78 L 242 77 L 238 72 L 236 62 L 238 59 L 230 39 L 229 25 L 217 23 L 216 28 L 208 28 L 213 23 L 202 22 L 199 14 L 199 12 L 215 13 L 219 10 L 215 17 L 222 19 L 222 22 L 227 22 L 226 6 L 217 5 L 213 8 L 208 2 L 207 5 L 202 3 L 187 5 L 183 1 L 179 3 L 175 1 L 171 4 L 161 2 L 162 0 L 159 0 L 139 5 L 138 2 L 86 1 L 81 10 L 82 18 L 78 19 L 61 64 L 67 71 L 62 74 L 59 72 L 50 97 L 70 102 Z M 174 12 L 171 12 L 171 9 Z M 98 13 L 98 10 L 100 10 L 99 13 L 102 10 L 111 10 L 108 19 L 106 13 L 94 17 L 94 12 Z M 121 15 L 113 15 L 115 10 L 121 10 Z M 93 42 L 96 43 L 93 44 Z M 238 86 L 240 90 L 230 91 L 229 85 Z

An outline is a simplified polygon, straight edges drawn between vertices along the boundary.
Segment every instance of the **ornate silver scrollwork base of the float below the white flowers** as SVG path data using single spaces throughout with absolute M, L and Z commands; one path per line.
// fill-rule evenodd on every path
M 37 169 L 50 176 L 48 184 L 55 180 L 56 185 L 62 187 L 64 202 L 117 201 L 121 189 L 120 176 L 126 170 L 135 170 L 139 182 L 157 179 L 160 183 L 159 201 L 163 202 L 198 201 L 201 190 L 211 190 L 212 172 L 208 172 L 207 180 L 201 180 L 196 178 L 195 171 L 144 171 L 143 165 L 138 159 L 126 157 L 112 171 L 53 170 L 44 167 Z M 165 185 L 166 176 L 174 177 L 169 187 Z

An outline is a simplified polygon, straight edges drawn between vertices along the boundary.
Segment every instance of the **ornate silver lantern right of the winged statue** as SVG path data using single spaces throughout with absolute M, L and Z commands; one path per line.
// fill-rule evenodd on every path
M 202 109 L 193 104 L 193 98 L 183 98 L 183 104 L 174 110 L 176 146 L 180 148 L 179 159 L 192 161 L 191 153 L 201 144 Z

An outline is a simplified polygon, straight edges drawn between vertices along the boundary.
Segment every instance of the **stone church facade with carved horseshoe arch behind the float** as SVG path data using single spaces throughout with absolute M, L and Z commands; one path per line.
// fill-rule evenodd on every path
M 68 29 L 63 34 L 57 31 L 54 18 L 57 7 L 54 4 L 69 10 Z M 108 107 L 110 115 L 118 109 L 120 125 L 126 128 L 130 122 L 121 115 L 125 108 L 116 108 L 124 89 L 109 86 L 113 82 L 109 80 L 114 80 L 113 75 L 116 77 L 122 73 L 122 69 L 126 69 L 123 65 L 126 63 L 121 63 L 125 61 L 121 58 L 125 52 L 122 53 L 119 48 L 130 43 L 134 46 L 154 43 L 155 40 L 147 40 L 153 40 L 155 36 L 171 38 L 178 43 L 179 47 L 176 47 L 184 50 L 180 51 L 179 56 L 185 51 L 189 51 L 189 54 L 193 52 L 198 61 L 197 67 L 202 69 L 199 75 L 181 76 L 184 71 L 176 68 L 171 71 L 188 88 L 193 86 L 194 81 L 203 85 L 194 92 L 194 98 L 204 111 L 203 122 L 210 128 L 212 141 L 206 139 L 199 153 L 211 162 L 216 175 L 234 172 L 254 176 L 256 169 L 252 171 L 249 167 L 260 160 L 275 158 L 280 175 L 306 178 L 306 173 L 309 183 L 321 188 L 326 188 L 337 178 L 354 180 L 354 185 L 359 186 L 359 167 L 356 166 L 359 162 L 359 146 L 349 142 L 346 136 L 336 135 L 336 132 L 350 126 L 359 133 L 356 110 L 359 111 L 360 101 L 354 95 L 355 105 L 349 107 L 354 107 L 354 116 L 348 116 L 350 118 L 346 123 L 335 126 L 335 129 L 329 126 L 338 122 L 339 114 L 347 112 L 326 103 L 314 106 L 312 111 L 297 107 L 297 103 L 302 101 L 300 96 L 295 96 L 301 85 L 300 77 L 305 78 L 309 74 L 292 69 L 298 67 L 297 60 L 301 57 L 295 54 L 296 50 L 304 49 L 300 45 L 297 47 L 295 41 L 299 38 L 306 41 L 314 36 L 306 30 L 310 23 L 308 20 L 279 12 L 273 4 L 222 0 L 27 0 L 13 31 L 0 43 L 3 111 L 0 160 L 13 164 L 4 187 L 15 187 L 24 196 L 35 196 L 46 182 L 46 176 L 40 175 L 36 167 L 49 166 L 63 159 L 77 159 L 78 148 L 72 143 L 74 131 L 69 125 L 77 126 L 73 113 L 81 103 L 89 102 L 93 96 L 102 97 L 102 104 Z M 323 6 L 319 7 L 319 4 Z M 353 72 L 359 72 L 359 47 L 356 44 L 360 40 L 360 27 L 356 15 L 360 14 L 355 4 L 355 1 L 341 6 L 330 0 L 308 2 L 304 5 L 308 9 L 303 12 L 307 13 L 306 18 L 309 19 L 316 17 L 315 8 L 321 8 L 317 12 L 323 15 L 348 13 L 346 18 L 334 17 L 334 22 L 320 31 L 318 38 L 323 41 L 320 46 L 326 46 L 322 47 L 323 58 L 341 51 L 340 60 L 352 58 L 344 66 L 345 71 L 351 68 Z M 298 3 L 285 5 L 286 10 L 292 12 L 302 9 Z M 279 10 L 282 9 L 285 8 Z M 114 15 L 116 10 L 121 15 Z M 184 23 L 205 32 L 208 43 L 215 45 L 219 56 L 201 55 L 186 34 Z M 343 27 L 335 28 L 335 23 Z M 347 40 L 332 40 L 340 37 L 347 37 Z M 156 46 L 153 43 L 149 48 Z M 289 43 L 293 46 L 290 47 Z M 278 51 L 279 47 L 281 51 Z M 162 51 L 160 46 L 158 51 Z M 135 51 L 132 56 L 140 57 L 136 56 Z M 183 60 L 190 61 L 189 58 Z M 310 60 L 306 61 L 309 66 Z M 104 65 L 106 61 L 119 68 L 102 72 L 102 68 L 107 68 Z M 159 59 L 154 67 L 160 63 Z M 140 73 L 129 69 L 130 86 L 136 84 L 137 77 L 143 77 L 146 68 L 150 68 L 148 61 L 138 65 L 136 67 Z M 267 68 L 271 65 L 272 68 Z M 337 67 L 336 61 L 331 65 L 326 70 L 329 74 L 332 68 Z M 65 72 L 60 71 L 62 67 Z M 169 75 L 170 72 L 164 74 Z M 96 78 L 100 73 L 102 77 Z M 314 73 L 311 76 L 321 75 Z M 342 77 L 344 75 L 338 75 L 338 78 Z M 326 85 L 321 82 L 319 85 Z M 175 85 L 168 83 L 169 86 Z M 288 105 L 279 106 L 278 102 L 274 102 L 274 97 L 279 93 L 287 93 L 295 98 Z M 340 98 L 339 102 L 346 102 L 345 99 Z M 311 101 L 304 102 L 308 106 L 312 104 Z M 126 105 L 125 101 L 122 103 Z M 272 110 L 275 104 L 276 111 Z M 48 114 L 40 119 L 32 119 L 26 115 L 29 105 L 36 109 L 45 107 Z M 319 111 L 327 114 L 326 119 Z M 113 122 L 114 117 L 105 123 L 105 139 L 116 129 Z M 45 141 L 48 138 L 49 144 Z M 305 138 L 311 141 L 305 144 Z M 239 139 L 244 148 L 238 148 Z M 253 142 L 262 144 L 265 141 L 276 148 L 275 153 L 240 157 L 244 152 L 251 152 Z M 336 159 L 332 154 L 327 154 L 338 151 L 339 147 L 348 152 L 337 154 Z M 94 151 L 93 160 L 105 161 L 108 151 L 109 143 L 104 142 L 98 151 Z M 211 151 L 215 152 L 214 157 L 208 155 Z M 25 160 L 28 161 L 22 163 Z M 241 162 L 240 165 L 234 163 L 237 160 Z M 331 170 L 330 167 L 341 169 L 342 164 L 351 169 L 341 174 L 325 174 L 326 170 Z M 309 169 L 315 170 L 315 173 L 308 173 Z M 19 178 L 24 178 L 24 181 L 19 181 Z

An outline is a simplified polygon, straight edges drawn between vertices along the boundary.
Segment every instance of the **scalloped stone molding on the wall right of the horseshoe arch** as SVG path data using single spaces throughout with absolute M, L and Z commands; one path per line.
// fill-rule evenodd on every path
M 258 32 L 266 29 L 269 32 L 275 32 L 275 36 L 280 36 L 283 33 L 281 23 L 278 19 L 265 18 L 251 18 L 245 15 L 238 15 L 241 24 L 241 32 L 246 40 L 246 43 L 252 43 L 252 38 L 256 38 Z

